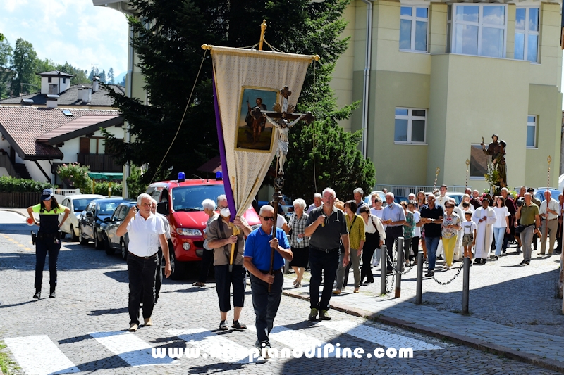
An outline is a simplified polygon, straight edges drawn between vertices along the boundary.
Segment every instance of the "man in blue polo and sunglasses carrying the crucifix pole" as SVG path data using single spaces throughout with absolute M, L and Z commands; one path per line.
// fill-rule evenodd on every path
M 257 328 L 257 348 L 270 348 L 269 333 L 274 326 L 274 317 L 282 298 L 284 260 L 292 260 L 293 254 L 286 233 L 274 226 L 274 208 L 263 205 L 260 209 L 261 226 L 247 236 L 243 262 L 251 274 L 252 305 L 255 307 L 255 326 Z M 274 248 L 274 265 L 270 274 L 271 248 Z M 269 291 L 269 285 L 271 285 Z

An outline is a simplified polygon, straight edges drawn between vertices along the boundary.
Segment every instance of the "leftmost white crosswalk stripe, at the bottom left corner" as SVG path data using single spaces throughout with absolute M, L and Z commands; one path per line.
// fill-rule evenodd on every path
M 46 335 L 5 338 L 4 342 L 26 375 L 80 372 Z

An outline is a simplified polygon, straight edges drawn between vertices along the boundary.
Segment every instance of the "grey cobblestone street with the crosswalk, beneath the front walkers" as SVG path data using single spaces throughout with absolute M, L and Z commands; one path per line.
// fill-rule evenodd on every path
M 126 333 L 127 269 L 117 256 L 93 246 L 63 242 L 55 299 L 32 300 L 35 254 L 25 225 L 0 224 L 0 338 L 20 369 L 15 374 L 53 371 L 84 374 L 556 374 L 498 355 L 467 348 L 335 310 L 330 322 L 307 322 L 309 303 L 283 297 L 273 346 L 308 348 L 339 343 L 341 348 L 414 349 L 412 359 L 285 358 L 264 364 L 240 356 L 204 358 L 213 343 L 252 348 L 254 312 L 250 290 L 241 320 L 247 331 L 219 332 L 213 280 L 205 288 L 192 281 L 166 280 L 156 305 L 154 326 Z M 29 249 L 29 250 L 28 250 Z M 44 277 L 48 277 L 45 271 Z M 287 284 L 291 277 L 287 277 Z M 47 280 L 45 280 L 47 283 Z M 150 348 L 199 348 L 199 358 L 154 359 Z M 47 370 L 50 367 L 49 370 Z

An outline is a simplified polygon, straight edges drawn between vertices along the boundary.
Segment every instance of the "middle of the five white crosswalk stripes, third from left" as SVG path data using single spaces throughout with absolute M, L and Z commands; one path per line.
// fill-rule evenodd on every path
M 200 354 L 200 357 L 214 355 L 216 359 L 219 359 L 223 362 L 249 362 L 249 348 L 245 348 L 243 345 L 235 343 L 228 338 L 219 336 L 211 331 L 207 331 L 206 329 L 176 329 L 167 331 L 167 333 L 171 336 L 181 338 L 190 345 L 194 346 L 196 349 L 200 350 L 200 352 L 205 353 L 205 355 Z M 219 348 L 223 350 L 222 353 L 217 352 Z M 192 355 L 193 354 L 195 354 L 195 352 L 192 352 Z M 220 358 L 217 358 L 218 356 Z

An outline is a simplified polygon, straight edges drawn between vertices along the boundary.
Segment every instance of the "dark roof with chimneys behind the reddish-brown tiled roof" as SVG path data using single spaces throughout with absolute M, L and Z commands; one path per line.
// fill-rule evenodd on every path
M 78 97 L 79 87 L 92 89 L 92 84 L 73 84 L 71 87 L 59 94 L 57 99 L 57 106 L 89 106 L 89 107 L 113 107 L 114 101 L 108 95 L 108 91 L 100 87 L 98 91 L 92 93 L 92 100 L 87 103 L 82 103 Z M 125 88 L 117 84 L 111 84 L 110 87 L 118 94 L 125 94 Z M 1 99 L 1 104 L 20 104 L 23 99 L 32 99 L 33 106 L 44 106 L 47 103 L 47 94 L 36 92 L 34 94 L 25 94 L 22 96 L 13 96 L 7 99 Z

